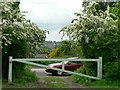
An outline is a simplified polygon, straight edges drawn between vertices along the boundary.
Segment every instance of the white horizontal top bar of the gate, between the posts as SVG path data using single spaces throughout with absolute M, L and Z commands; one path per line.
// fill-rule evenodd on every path
M 12 61 L 98 61 L 99 59 L 12 59 Z

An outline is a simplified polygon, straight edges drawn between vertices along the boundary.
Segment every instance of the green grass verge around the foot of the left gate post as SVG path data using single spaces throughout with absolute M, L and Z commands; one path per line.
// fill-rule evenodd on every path
M 13 80 L 11 84 L 8 84 L 8 80 L 3 78 L 2 85 L 5 88 L 25 88 L 25 87 L 37 87 L 38 85 L 32 85 L 37 82 L 38 77 L 35 72 L 32 72 L 27 66 L 22 75 L 18 75 L 18 77 L 13 76 Z

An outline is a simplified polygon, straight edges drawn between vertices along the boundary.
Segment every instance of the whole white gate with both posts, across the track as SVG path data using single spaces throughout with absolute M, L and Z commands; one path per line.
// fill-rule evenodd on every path
M 49 68 L 51 68 L 53 70 L 61 71 L 61 72 L 66 72 L 66 73 L 69 73 L 69 74 L 75 74 L 75 75 L 79 75 L 79 76 L 92 78 L 92 79 L 97 79 L 97 80 L 102 79 L 102 57 L 99 57 L 99 59 L 77 59 L 77 58 L 73 58 L 73 59 L 71 59 L 71 58 L 68 58 L 68 59 L 38 59 L 38 58 L 37 59 L 35 59 L 35 58 L 13 59 L 12 56 L 10 56 L 9 57 L 8 83 L 12 83 L 12 62 L 13 61 L 21 62 L 21 63 L 25 63 L 25 64 L 30 64 L 30 65 L 35 65 L 35 66 L 39 66 L 39 67 L 43 67 L 43 68 L 47 68 L 48 66 L 33 63 L 33 62 L 30 62 L 30 61 L 62 61 L 62 69 L 52 68 L 52 67 L 49 67 Z M 94 77 L 94 76 L 89 76 L 89 75 L 85 75 L 85 74 L 65 70 L 64 61 L 96 61 L 97 62 L 97 76 Z

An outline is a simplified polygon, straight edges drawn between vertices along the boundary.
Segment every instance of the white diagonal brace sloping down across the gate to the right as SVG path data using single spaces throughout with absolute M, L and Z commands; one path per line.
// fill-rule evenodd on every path
M 21 63 L 26 63 L 26 64 L 31 64 L 31 65 L 39 66 L 39 67 L 48 68 L 48 66 L 46 66 L 46 65 L 37 64 L 37 63 L 33 63 L 33 62 L 19 61 L 19 60 L 16 60 L 16 61 L 17 62 L 21 62 Z M 66 72 L 66 73 L 70 73 L 70 74 L 75 74 L 75 75 L 79 75 L 79 76 L 85 76 L 85 77 L 92 78 L 92 79 L 99 79 L 98 77 L 89 76 L 89 75 L 85 75 L 85 74 L 81 74 L 81 73 L 76 73 L 76 72 L 71 72 L 71 71 L 63 70 L 63 69 L 59 69 L 59 68 L 50 68 L 50 69 L 61 71 L 61 72 Z

